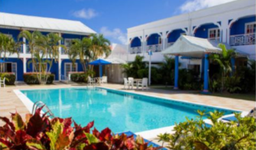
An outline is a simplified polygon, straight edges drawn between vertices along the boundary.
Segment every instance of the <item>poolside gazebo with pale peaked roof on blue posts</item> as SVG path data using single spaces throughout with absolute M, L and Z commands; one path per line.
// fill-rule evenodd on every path
M 202 70 L 204 70 L 204 91 L 209 93 L 209 54 L 221 53 L 218 47 L 219 42 L 210 41 L 204 38 L 196 38 L 193 36 L 180 36 L 180 38 L 171 46 L 165 49 L 162 54 L 175 56 L 175 82 L 174 89 L 179 89 L 179 56 L 182 59 L 202 59 Z M 225 44 L 226 45 L 226 44 Z M 227 49 L 232 49 L 230 45 L 226 45 Z M 239 53 L 237 56 L 246 57 L 246 54 Z M 232 70 L 235 69 L 235 58 L 231 59 Z

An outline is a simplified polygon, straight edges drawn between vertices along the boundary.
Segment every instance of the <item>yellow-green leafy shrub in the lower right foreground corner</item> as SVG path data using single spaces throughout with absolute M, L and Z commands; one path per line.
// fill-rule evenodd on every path
M 223 123 L 218 118 L 222 112 L 209 112 L 208 118 L 212 126 L 206 126 L 200 112 L 197 119 L 187 119 L 184 123 L 176 124 L 173 135 L 159 135 L 159 140 L 166 142 L 170 149 L 196 149 L 196 150 L 247 150 L 256 149 L 256 124 L 254 117 L 241 117 L 235 114 L 237 121 Z

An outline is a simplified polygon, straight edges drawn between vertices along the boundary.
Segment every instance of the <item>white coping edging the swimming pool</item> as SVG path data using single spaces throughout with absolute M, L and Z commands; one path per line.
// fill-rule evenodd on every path
M 136 92 L 132 92 L 132 91 L 124 91 L 124 90 L 120 90 L 120 89 L 112 89 L 109 87 L 100 87 L 100 86 L 94 86 L 97 87 L 99 89 L 106 89 L 106 90 L 113 90 L 113 91 L 119 91 L 122 93 L 127 93 L 127 94 L 135 94 L 135 95 L 142 95 L 142 96 L 148 96 L 151 98 L 160 98 L 163 100 L 170 100 L 170 101 L 177 101 L 177 102 L 182 102 L 182 103 L 189 103 L 189 104 L 195 104 L 195 105 L 200 105 L 200 106 L 205 106 L 205 107 L 213 107 L 216 109 L 225 109 L 225 110 L 231 110 L 231 111 L 238 111 L 238 112 L 242 112 L 243 114 L 248 114 L 248 112 L 244 112 L 243 110 L 236 110 L 236 109 L 229 109 L 226 107 L 216 107 L 216 106 L 212 106 L 212 105 L 203 105 L 202 103 L 196 103 L 196 102 L 191 102 L 191 101 L 186 101 L 186 100 L 177 100 L 177 99 L 173 99 L 173 98 L 165 98 L 163 96 L 154 96 L 154 95 L 148 95 L 148 94 L 143 94 L 143 93 L 136 93 Z M 76 88 L 93 88 L 92 86 L 77 86 L 77 87 L 53 87 L 53 88 L 35 88 L 35 89 L 13 89 L 13 92 L 18 96 L 18 98 L 20 99 L 20 101 L 22 101 L 22 103 L 25 105 L 25 107 L 29 110 L 30 113 L 32 113 L 32 109 L 33 109 L 33 101 L 31 101 L 24 93 L 22 93 L 22 90 L 25 91 L 34 91 L 34 90 L 39 90 L 39 89 L 43 89 L 43 90 L 52 90 L 52 89 L 76 89 Z M 225 115 L 223 117 L 229 117 L 229 116 L 233 116 L 234 114 L 228 114 Z M 205 123 L 211 124 L 211 121 L 209 119 L 204 119 Z M 157 135 L 159 135 L 160 133 L 173 133 L 173 128 L 175 127 L 175 125 L 173 126 L 166 126 L 163 128 L 156 128 L 153 130 L 147 130 L 147 131 L 140 131 L 140 132 L 136 132 L 136 135 L 140 135 L 141 137 L 145 138 L 145 139 L 154 139 L 157 137 Z

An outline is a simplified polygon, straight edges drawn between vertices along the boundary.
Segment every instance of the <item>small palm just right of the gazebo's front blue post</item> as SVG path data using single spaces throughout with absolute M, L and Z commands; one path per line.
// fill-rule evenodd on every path
M 236 57 L 236 52 L 234 49 L 227 50 L 224 44 L 219 44 L 221 54 L 212 54 L 209 58 L 212 59 L 214 62 L 218 63 L 221 68 L 221 91 L 225 89 L 225 77 L 227 77 L 228 73 L 231 73 L 232 66 L 231 66 L 231 58 Z

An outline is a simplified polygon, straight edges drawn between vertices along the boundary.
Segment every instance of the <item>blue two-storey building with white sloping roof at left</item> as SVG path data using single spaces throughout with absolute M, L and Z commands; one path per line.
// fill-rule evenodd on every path
M 10 55 L 6 58 L 6 63 L 3 64 L 4 72 L 14 73 L 17 81 L 23 80 L 24 73 L 35 71 L 32 64 L 29 64 L 31 54 L 28 49 L 28 41 L 26 38 L 18 39 L 22 30 L 40 31 L 42 34 L 58 33 L 63 38 L 61 44 L 65 45 L 67 49 L 73 39 L 82 39 L 95 33 L 90 27 L 79 21 L 0 13 L 0 33 L 12 36 L 15 41 L 24 41 L 19 47 L 19 57 L 17 54 Z M 61 48 L 59 50 L 59 60 L 52 64 L 50 70 L 55 75 L 55 80 L 67 78 L 72 71 L 83 71 L 79 60 L 72 65 L 67 53 Z

